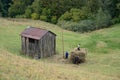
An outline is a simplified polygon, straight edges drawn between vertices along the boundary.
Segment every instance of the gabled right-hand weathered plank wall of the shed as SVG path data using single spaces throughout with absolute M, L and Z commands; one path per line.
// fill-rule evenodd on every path
M 55 35 L 51 32 L 48 32 L 43 38 L 39 40 L 40 46 L 40 57 L 48 57 L 55 54 L 56 50 L 56 40 Z

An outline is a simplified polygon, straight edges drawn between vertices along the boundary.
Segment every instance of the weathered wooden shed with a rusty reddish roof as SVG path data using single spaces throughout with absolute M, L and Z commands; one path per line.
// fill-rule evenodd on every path
M 29 27 L 21 33 L 22 53 L 33 58 L 52 56 L 56 52 L 56 34 L 41 28 Z

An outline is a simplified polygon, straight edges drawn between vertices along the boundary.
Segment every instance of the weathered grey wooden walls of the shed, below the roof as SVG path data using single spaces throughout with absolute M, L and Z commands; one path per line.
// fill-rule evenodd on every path
M 21 37 L 22 52 L 31 57 L 48 57 L 56 52 L 56 36 L 51 32 L 47 32 L 40 40 L 28 37 Z

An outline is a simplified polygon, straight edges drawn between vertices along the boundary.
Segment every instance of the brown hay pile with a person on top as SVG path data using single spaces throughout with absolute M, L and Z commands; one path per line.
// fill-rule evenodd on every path
M 80 51 L 74 49 L 70 54 L 70 62 L 74 64 L 79 64 L 86 61 L 87 51 L 85 48 L 81 48 Z

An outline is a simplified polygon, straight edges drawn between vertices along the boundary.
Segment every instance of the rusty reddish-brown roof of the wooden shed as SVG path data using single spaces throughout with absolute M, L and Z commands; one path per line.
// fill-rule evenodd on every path
M 48 30 L 45 30 L 45 29 L 41 29 L 41 28 L 35 28 L 35 27 L 29 27 L 29 28 L 26 28 L 22 33 L 21 33 L 21 36 L 23 37 L 29 37 L 29 38 L 32 38 L 32 39 L 41 39 L 47 32 L 50 32 L 52 33 L 53 35 L 56 36 L 55 33 L 51 32 L 51 31 L 48 31 Z

